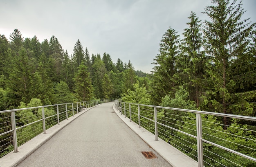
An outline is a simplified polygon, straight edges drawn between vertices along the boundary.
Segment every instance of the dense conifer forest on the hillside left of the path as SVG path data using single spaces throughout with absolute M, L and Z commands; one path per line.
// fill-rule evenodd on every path
M 90 56 L 79 40 L 69 55 L 55 36 L 40 43 L 15 29 L 9 38 L 0 35 L 0 110 L 33 98 L 43 105 L 117 99 L 136 81 L 148 84 L 147 74 L 130 61 L 113 63 L 107 53 Z

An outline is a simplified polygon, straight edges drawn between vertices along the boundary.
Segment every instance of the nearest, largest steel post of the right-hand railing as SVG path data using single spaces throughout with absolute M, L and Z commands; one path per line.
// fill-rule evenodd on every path
M 199 113 L 196 113 L 196 132 L 197 132 L 197 144 L 198 144 L 198 167 L 204 166 L 203 159 L 203 142 L 202 138 L 202 118 Z

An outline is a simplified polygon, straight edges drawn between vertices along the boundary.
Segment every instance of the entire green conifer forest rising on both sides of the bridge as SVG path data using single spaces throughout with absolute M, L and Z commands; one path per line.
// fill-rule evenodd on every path
M 242 19 L 242 1 L 212 0 L 203 13 L 208 20 L 191 12 L 182 34 L 171 27 L 164 33 L 152 74 L 135 71 L 130 61 L 114 63 L 108 53 L 90 55 L 79 40 L 70 55 L 55 36 L 40 43 L 36 35 L 24 39 L 18 29 L 10 40 L 0 35 L 0 110 L 25 106 L 31 99 L 49 105 L 121 98 L 256 116 L 256 23 Z M 163 113 L 168 117 L 167 111 Z M 242 127 L 225 117 L 202 119 L 220 124 L 212 127 L 220 132 L 231 131 L 222 124 Z M 255 122 L 247 125 L 256 130 Z M 255 134 L 240 133 L 256 139 Z

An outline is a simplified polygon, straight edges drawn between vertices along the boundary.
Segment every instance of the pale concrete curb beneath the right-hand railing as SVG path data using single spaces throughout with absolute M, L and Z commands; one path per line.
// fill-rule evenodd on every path
M 121 115 L 121 113 L 115 109 L 114 105 L 113 110 L 128 127 L 130 127 L 140 138 L 142 138 L 148 145 L 150 145 L 150 147 L 152 147 L 173 167 L 198 167 L 197 161 L 193 160 L 186 154 L 183 154 L 180 150 L 176 149 L 172 145 L 169 145 L 161 138 L 158 138 L 158 141 L 155 141 L 154 134 L 148 132 L 143 127 L 138 128 L 137 123 L 130 122 L 129 118 L 125 118 L 124 115 Z

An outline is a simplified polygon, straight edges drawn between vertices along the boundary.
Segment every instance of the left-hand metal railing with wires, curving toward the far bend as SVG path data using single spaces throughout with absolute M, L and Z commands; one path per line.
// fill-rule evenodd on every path
M 92 100 L 76 103 L 44 105 L 0 111 L 0 157 L 13 151 L 40 133 L 78 114 L 83 108 L 110 102 L 112 100 Z

